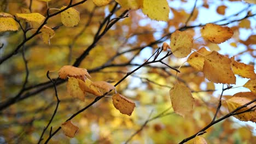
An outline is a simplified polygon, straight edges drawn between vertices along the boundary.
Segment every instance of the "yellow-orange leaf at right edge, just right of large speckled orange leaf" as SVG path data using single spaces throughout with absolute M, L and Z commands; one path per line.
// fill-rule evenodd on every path
M 246 77 L 248 79 L 256 79 L 253 65 L 248 65 L 235 61 L 235 57 L 231 57 L 231 67 L 234 74 Z

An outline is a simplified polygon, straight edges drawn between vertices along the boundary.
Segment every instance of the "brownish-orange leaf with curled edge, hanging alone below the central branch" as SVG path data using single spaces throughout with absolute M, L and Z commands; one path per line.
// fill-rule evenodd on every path
M 133 109 L 135 107 L 135 103 L 123 95 L 116 93 L 112 96 L 113 105 L 115 109 L 119 110 L 121 113 L 131 116 Z

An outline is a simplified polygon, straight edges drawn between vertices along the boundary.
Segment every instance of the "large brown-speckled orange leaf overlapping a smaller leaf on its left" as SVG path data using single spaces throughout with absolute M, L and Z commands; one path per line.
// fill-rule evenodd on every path
M 236 77 L 231 70 L 231 60 L 216 51 L 211 52 L 205 57 L 203 64 L 203 74 L 214 83 L 235 84 Z

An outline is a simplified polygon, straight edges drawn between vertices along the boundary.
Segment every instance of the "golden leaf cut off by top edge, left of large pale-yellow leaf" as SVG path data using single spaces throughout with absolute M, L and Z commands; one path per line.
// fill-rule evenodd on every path
M 118 2 L 121 7 L 123 7 L 124 9 L 139 9 L 142 7 L 142 2 L 143 0 L 115 0 L 116 2 Z

